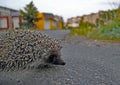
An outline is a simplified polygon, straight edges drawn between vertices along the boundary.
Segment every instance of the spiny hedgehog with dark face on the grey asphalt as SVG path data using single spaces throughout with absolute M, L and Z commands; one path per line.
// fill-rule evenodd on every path
M 65 65 L 58 40 L 39 31 L 8 31 L 0 37 L 0 69 L 19 70 L 40 65 Z

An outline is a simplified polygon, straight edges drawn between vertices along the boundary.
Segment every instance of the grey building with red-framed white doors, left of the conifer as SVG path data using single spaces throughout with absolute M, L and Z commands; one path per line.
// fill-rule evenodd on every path
M 0 6 L 0 30 L 18 28 L 20 22 L 22 18 L 18 10 Z

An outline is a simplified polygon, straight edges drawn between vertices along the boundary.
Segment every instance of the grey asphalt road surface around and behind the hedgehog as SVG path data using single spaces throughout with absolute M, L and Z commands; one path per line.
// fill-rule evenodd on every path
M 120 43 L 64 37 L 69 31 L 44 31 L 64 39 L 65 66 L 1 72 L 0 85 L 120 85 Z

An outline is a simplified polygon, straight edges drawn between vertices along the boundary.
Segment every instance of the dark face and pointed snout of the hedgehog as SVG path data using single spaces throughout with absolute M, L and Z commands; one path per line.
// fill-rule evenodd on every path
M 48 58 L 48 63 L 54 65 L 65 65 L 66 63 L 61 59 L 61 57 L 57 54 L 51 54 Z

